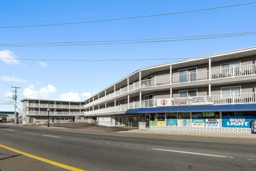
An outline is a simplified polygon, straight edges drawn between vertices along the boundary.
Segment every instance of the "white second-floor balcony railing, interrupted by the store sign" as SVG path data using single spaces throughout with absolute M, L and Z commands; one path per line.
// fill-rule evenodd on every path
M 218 95 L 210 95 L 206 97 L 197 97 L 197 98 L 205 98 L 212 99 L 211 105 L 230 105 L 230 104 L 253 104 L 256 103 L 256 93 L 233 93 L 233 94 L 218 94 Z M 172 100 L 189 100 L 193 97 L 187 98 L 172 98 Z M 83 112 L 84 115 L 95 115 L 101 113 L 109 113 L 109 112 L 125 112 L 127 109 L 138 109 L 138 108 L 155 108 L 157 106 L 157 99 L 150 100 L 142 100 L 136 102 L 131 102 L 128 104 L 120 104 L 117 106 L 112 106 L 110 108 L 104 108 L 100 110 L 94 110 L 89 112 Z M 129 108 L 128 108 L 129 107 Z

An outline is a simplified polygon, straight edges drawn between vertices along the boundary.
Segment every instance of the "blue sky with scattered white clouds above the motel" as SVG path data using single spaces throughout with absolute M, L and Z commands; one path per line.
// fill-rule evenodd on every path
M 81 22 L 183 12 L 253 1 L 0 1 L 0 27 Z M 0 28 L 0 43 L 151 39 L 256 31 L 256 4 L 196 13 L 45 27 Z M 255 46 L 255 35 L 148 44 L 0 46 L 0 111 L 13 111 L 11 86 L 24 98 L 82 101 L 133 71 L 175 58 Z M 151 61 L 25 61 L 29 59 L 159 59 Z M 7 98 L 6 98 L 7 97 Z M 18 103 L 22 109 L 22 104 Z

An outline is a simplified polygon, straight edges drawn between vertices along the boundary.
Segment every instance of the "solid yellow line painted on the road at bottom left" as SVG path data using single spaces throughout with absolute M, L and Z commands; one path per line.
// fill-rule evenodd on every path
M 85 171 L 85 170 L 80 169 L 80 168 L 68 166 L 68 165 L 61 164 L 61 163 L 54 162 L 54 161 L 50 161 L 49 159 L 46 159 L 46 158 L 42 158 L 42 157 L 39 157 L 39 156 L 35 156 L 33 154 L 29 154 L 29 153 L 26 153 L 26 152 L 23 152 L 23 151 L 19 151 L 18 149 L 8 147 L 8 146 L 5 146 L 3 144 L 0 144 L 0 147 L 9 149 L 10 151 L 13 151 L 13 152 L 16 152 L 16 153 L 19 153 L 19 154 L 23 154 L 25 156 L 35 158 L 35 159 L 38 159 L 39 161 L 46 162 L 46 163 L 49 163 L 49 164 L 52 164 L 52 165 L 55 165 L 55 166 L 59 166 L 59 167 L 65 168 L 65 169 L 69 169 L 69 170 L 73 170 L 73 171 Z

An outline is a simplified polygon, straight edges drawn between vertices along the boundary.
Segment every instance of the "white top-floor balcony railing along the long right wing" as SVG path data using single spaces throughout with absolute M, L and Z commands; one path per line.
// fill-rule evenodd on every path
M 234 78 L 234 77 L 241 77 L 241 76 L 251 76 L 256 74 L 256 65 L 244 65 L 244 66 L 237 66 L 237 67 L 229 67 L 229 68 L 222 68 L 222 69 L 212 69 L 206 71 L 198 71 L 198 72 L 188 72 L 184 74 L 174 74 L 172 79 L 170 76 L 165 77 L 155 77 L 152 79 L 141 80 L 141 88 L 150 88 L 150 87 L 158 87 L 158 86 L 165 86 L 170 84 L 172 80 L 172 84 L 179 84 L 179 83 L 186 83 L 186 82 L 197 82 L 197 81 L 205 81 L 205 80 L 214 80 L 214 79 L 222 79 L 222 78 Z M 85 105 L 81 105 L 80 108 L 88 108 L 89 106 L 99 104 L 103 101 L 107 101 L 118 97 L 122 94 L 127 92 L 132 92 L 135 90 L 140 89 L 140 82 L 134 82 L 129 85 L 128 87 L 124 87 L 122 89 L 116 90 L 106 96 L 94 100 Z M 133 105 L 132 105 L 133 106 Z M 67 107 L 63 107 L 67 108 Z M 76 107 L 77 108 L 77 107 Z

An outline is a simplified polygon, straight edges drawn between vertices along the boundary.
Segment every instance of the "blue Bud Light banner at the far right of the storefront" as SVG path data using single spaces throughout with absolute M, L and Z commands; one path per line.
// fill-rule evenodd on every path
M 222 116 L 222 127 L 247 127 L 250 128 L 254 116 Z

